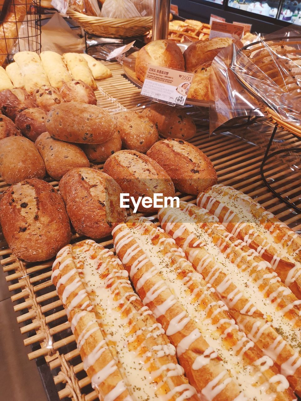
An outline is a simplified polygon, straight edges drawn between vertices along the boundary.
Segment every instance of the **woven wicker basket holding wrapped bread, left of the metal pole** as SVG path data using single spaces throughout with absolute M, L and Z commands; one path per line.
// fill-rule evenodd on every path
M 86 32 L 106 38 L 129 38 L 146 34 L 153 25 L 153 17 L 140 18 L 101 18 L 68 10 Z

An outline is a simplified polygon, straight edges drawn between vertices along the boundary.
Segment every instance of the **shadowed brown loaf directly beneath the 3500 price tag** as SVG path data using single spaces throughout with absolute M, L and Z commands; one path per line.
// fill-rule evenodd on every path
M 146 107 L 142 115 L 155 124 L 159 134 L 164 138 L 189 139 L 196 134 L 193 119 L 179 107 L 154 103 Z

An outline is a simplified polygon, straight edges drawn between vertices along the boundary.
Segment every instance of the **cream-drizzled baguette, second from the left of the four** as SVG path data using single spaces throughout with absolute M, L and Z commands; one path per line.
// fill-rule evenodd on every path
M 205 399 L 293 398 L 287 379 L 279 375 L 273 361 L 263 356 L 238 330 L 226 305 L 194 271 L 169 235 L 141 218 L 117 226 L 113 237 L 116 252 L 130 271 L 138 294 L 162 322 L 177 347 L 177 356 L 187 375 L 193 377 L 195 387 Z M 179 303 L 182 308 L 174 309 Z M 195 327 L 193 331 L 189 330 L 191 321 Z M 195 353 L 199 352 L 197 340 L 204 337 L 208 347 L 195 358 Z M 208 380 L 205 368 L 218 358 L 218 354 L 222 358 L 220 365 L 232 378 L 217 386 L 218 389 L 214 381 L 217 384 L 217 378 L 225 375 L 220 373 L 202 387 L 202 381 Z M 214 373 L 218 373 L 217 366 L 211 371 L 212 377 Z M 225 392 L 226 382 L 230 384 L 231 381 L 232 393 L 229 389 Z M 235 389 L 239 387 L 242 392 L 236 398 Z

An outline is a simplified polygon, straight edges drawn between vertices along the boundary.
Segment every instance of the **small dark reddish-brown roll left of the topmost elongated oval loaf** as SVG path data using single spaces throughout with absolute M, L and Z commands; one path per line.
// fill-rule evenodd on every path
M 16 116 L 15 124 L 24 136 L 31 141 L 35 141 L 39 135 L 46 132 L 45 121 L 45 111 L 39 107 L 33 107 L 32 109 L 21 111 Z

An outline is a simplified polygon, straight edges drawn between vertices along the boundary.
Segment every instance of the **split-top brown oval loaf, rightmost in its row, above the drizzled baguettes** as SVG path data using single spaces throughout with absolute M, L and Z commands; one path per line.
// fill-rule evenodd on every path
M 147 155 L 166 170 L 180 192 L 197 195 L 217 182 L 212 162 L 188 142 L 165 139 L 155 143 Z

